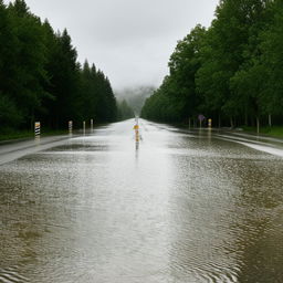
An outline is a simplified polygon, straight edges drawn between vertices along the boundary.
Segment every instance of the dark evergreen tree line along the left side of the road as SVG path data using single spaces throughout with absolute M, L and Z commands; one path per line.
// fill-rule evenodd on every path
M 109 80 L 87 61 L 82 66 L 67 31 L 54 32 L 23 0 L 0 0 L 0 128 L 31 128 L 35 120 L 65 128 L 67 120 L 113 122 Z

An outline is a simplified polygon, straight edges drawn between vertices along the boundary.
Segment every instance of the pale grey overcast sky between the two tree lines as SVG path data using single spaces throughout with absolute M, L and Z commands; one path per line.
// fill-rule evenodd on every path
M 6 1 L 8 2 L 8 1 Z M 53 29 L 67 29 L 78 61 L 95 63 L 114 90 L 158 86 L 177 41 L 208 27 L 219 0 L 25 0 Z

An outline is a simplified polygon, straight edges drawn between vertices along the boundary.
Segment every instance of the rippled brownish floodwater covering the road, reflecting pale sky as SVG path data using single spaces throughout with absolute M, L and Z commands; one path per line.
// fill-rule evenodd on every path
M 283 147 L 133 126 L 0 166 L 0 282 L 283 282 Z

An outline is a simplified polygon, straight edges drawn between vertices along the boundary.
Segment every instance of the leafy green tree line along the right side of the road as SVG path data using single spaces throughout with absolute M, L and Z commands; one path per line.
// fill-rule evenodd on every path
M 171 54 L 145 118 L 213 125 L 282 124 L 283 1 L 221 0 L 211 25 L 197 25 Z

